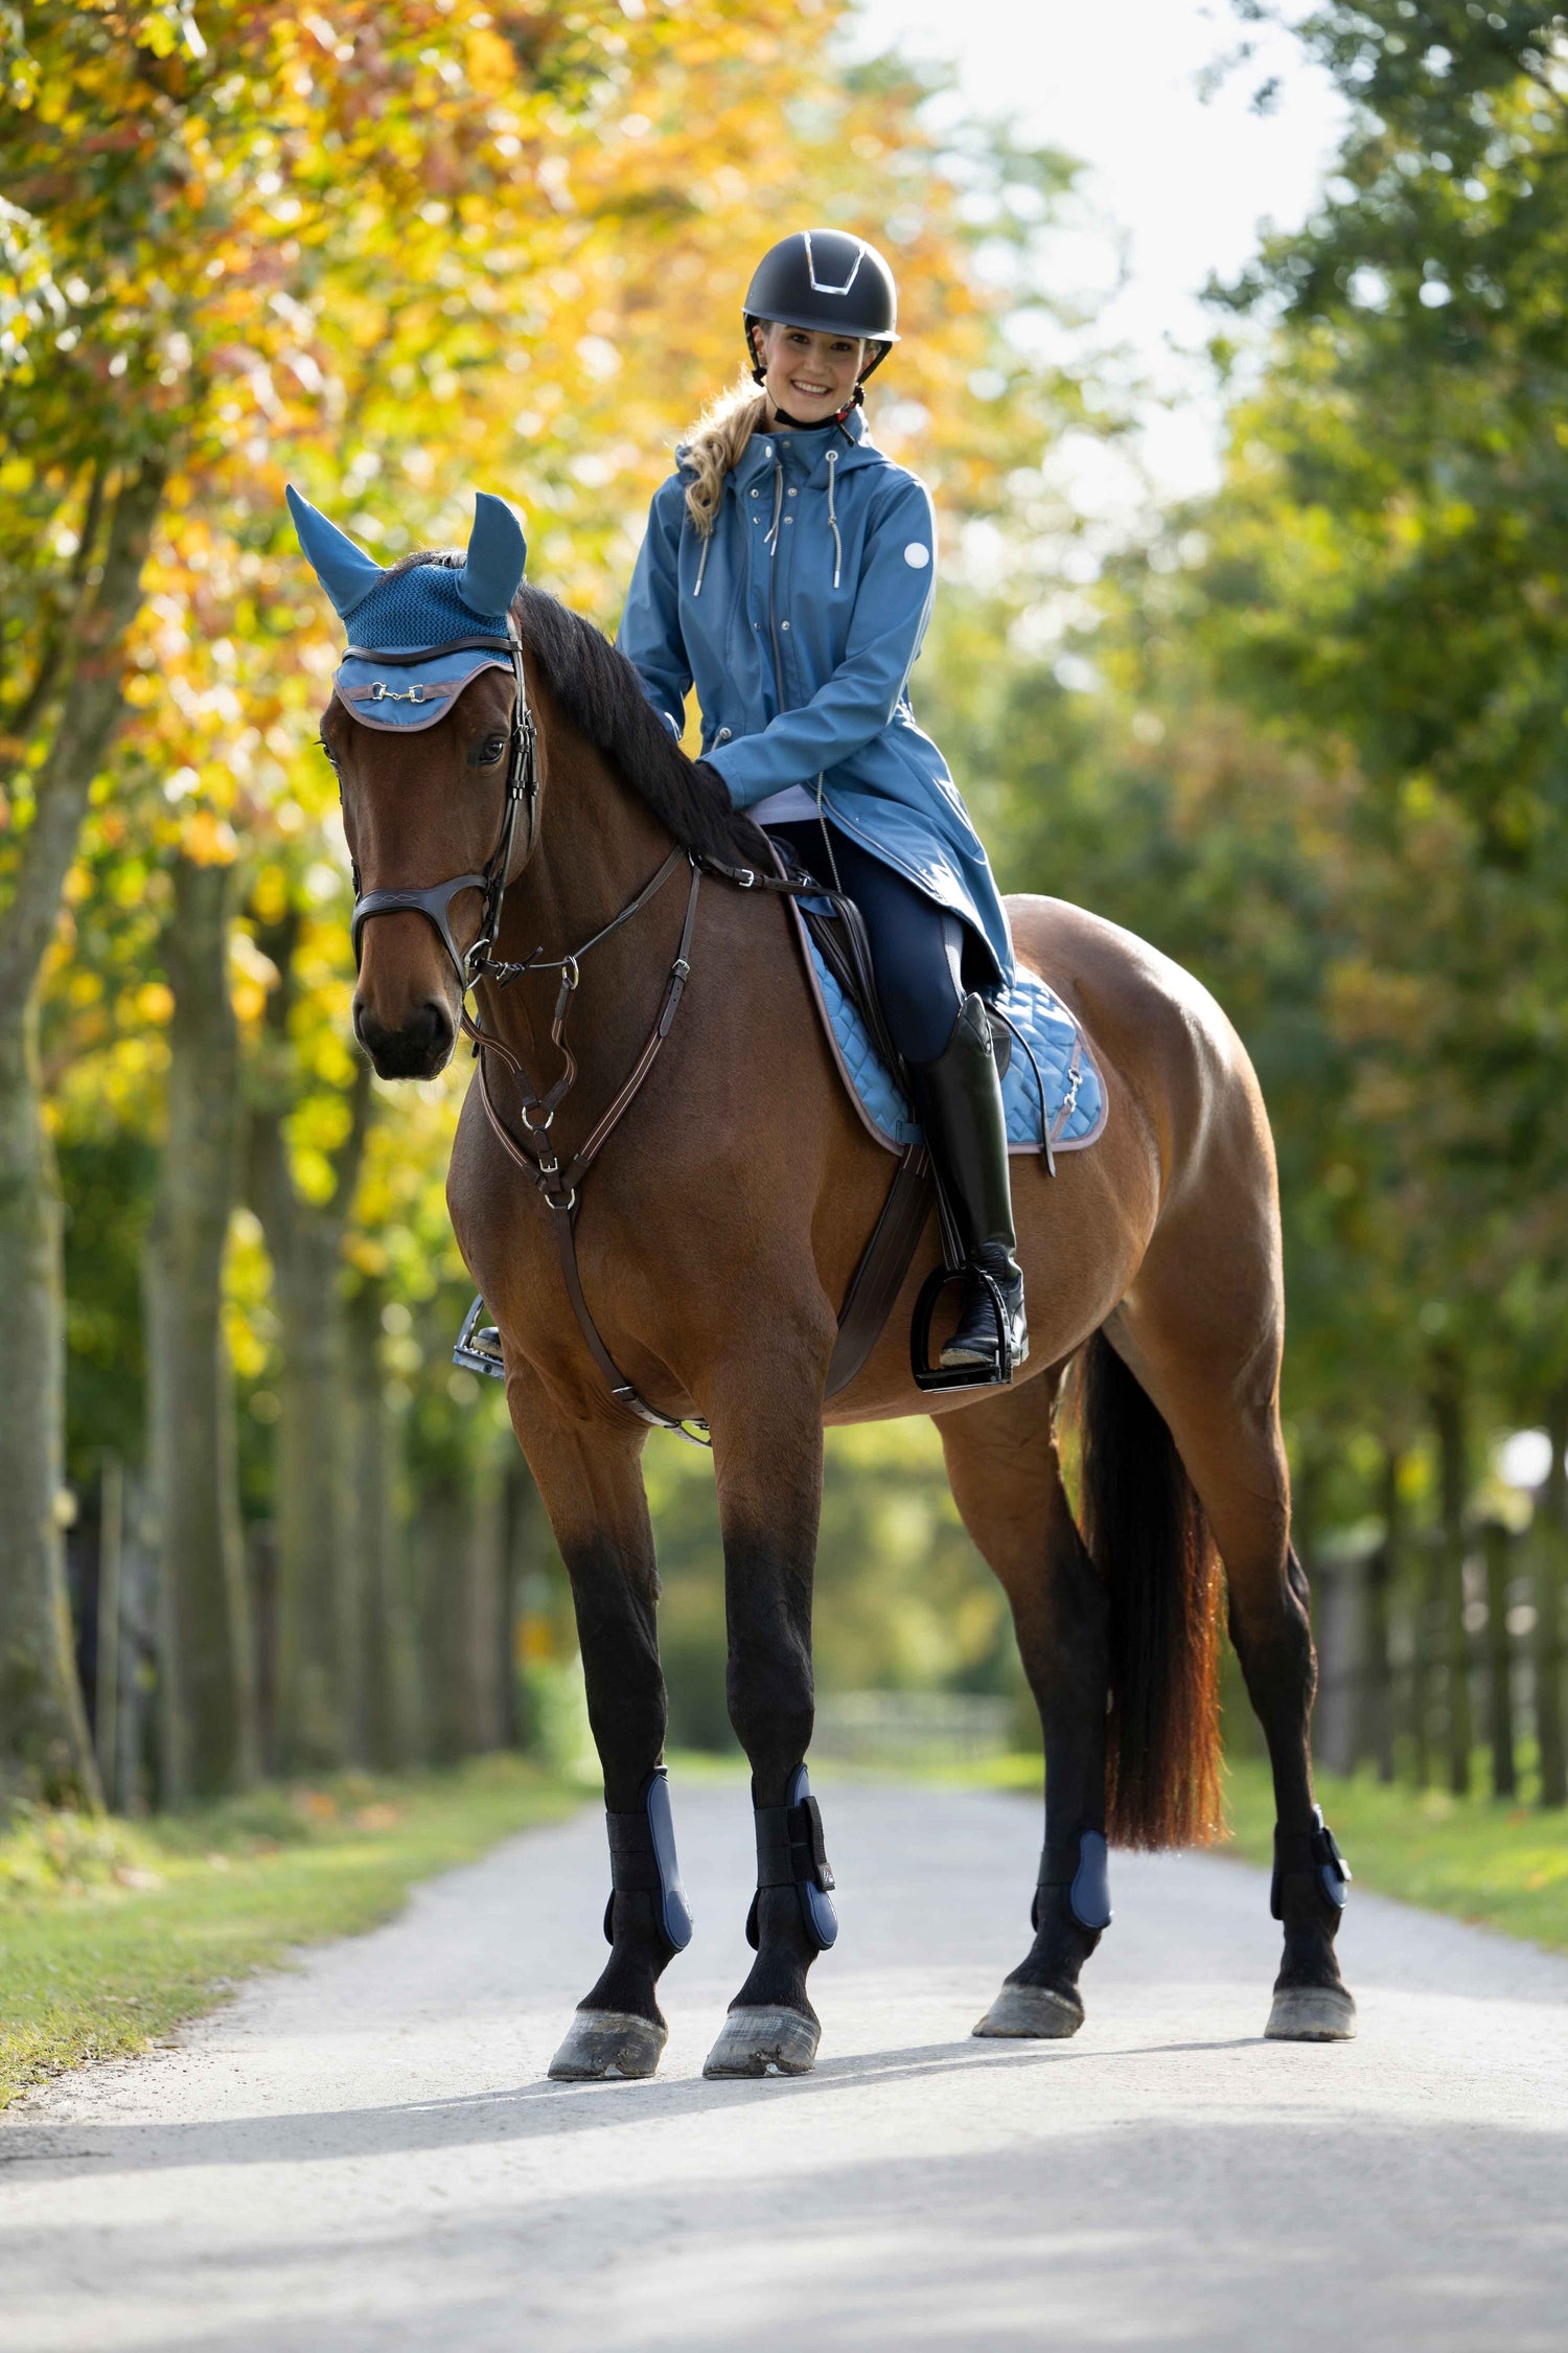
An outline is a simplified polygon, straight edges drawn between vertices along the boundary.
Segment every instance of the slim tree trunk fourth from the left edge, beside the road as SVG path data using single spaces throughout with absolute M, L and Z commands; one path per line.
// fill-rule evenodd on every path
M 411 1755 L 411 1628 L 397 1525 L 395 1428 L 381 1369 L 386 1292 L 362 1282 L 343 1318 L 348 1438 L 360 1595 L 360 1732 L 367 1765 L 395 1772 Z

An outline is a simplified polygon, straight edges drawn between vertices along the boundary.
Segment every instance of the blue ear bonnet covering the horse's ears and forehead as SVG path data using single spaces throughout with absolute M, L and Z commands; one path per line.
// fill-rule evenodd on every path
M 364 727 L 435 727 L 470 678 L 512 668 L 508 607 L 522 581 L 527 544 L 501 499 L 480 492 L 461 567 L 411 565 L 407 572 L 383 572 L 294 487 L 289 511 L 315 576 L 348 626 L 355 652 L 339 664 L 334 689 Z M 454 638 L 491 642 L 430 652 Z M 378 661 L 378 654 L 428 659 Z

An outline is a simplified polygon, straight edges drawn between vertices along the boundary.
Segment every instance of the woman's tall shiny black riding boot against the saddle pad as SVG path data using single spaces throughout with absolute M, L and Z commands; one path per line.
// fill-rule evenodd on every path
M 959 1327 L 943 1348 L 943 1372 L 961 1372 L 966 1365 L 980 1377 L 987 1367 L 997 1372 L 997 1313 L 985 1275 L 1001 1294 L 1013 1365 L 1023 1365 L 1030 1353 L 1030 1327 L 1023 1313 L 1023 1268 L 1016 1257 L 1001 1078 L 983 998 L 964 998 L 945 1052 L 936 1061 L 917 1064 L 912 1078 L 919 1118 L 959 1221 L 966 1257 Z

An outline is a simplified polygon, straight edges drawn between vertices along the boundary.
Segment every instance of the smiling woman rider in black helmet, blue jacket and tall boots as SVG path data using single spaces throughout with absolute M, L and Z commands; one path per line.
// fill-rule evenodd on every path
M 670 732 L 686 689 L 731 802 L 860 908 L 893 1045 L 966 1252 L 943 1369 L 1027 1355 L 1001 1082 L 985 995 L 1013 979 L 992 871 L 907 678 L 936 591 L 924 482 L 863 424 L 896 334 L 893 273 L 837 228 L 785 238 L 745 299 L 745 379 L 677 449 L 637 558 L 621 652 Z

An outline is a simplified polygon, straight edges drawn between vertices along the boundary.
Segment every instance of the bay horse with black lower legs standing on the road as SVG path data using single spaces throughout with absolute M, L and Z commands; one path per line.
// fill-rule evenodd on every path
M 1011 899 L 1018 955 L 1084 1024 L 1110 1101 L 1100 1141 L 1063 1155 L 1056 1179 L 1034 1158 L 1013 1160 L 1032 1355 L 1009 1388 L 914 1386 L 907 1332 L 938 1264 L 931 1214 L 879 1344 L 825 1409 L 839 1304 L 889 1193 L 889 1155 L 844 1092 L 790 908 L 736 887 L 738 873 L 771 868 L 769 845 L 686 760 L 630 664 L 588 621 L 524 586 L 510 626 L 517 673 L 482 671 L 437 725 L 376 732 L 334 699 L 322 741 L 362 894 L 353 1024 L 383 1078 L 430 1078 L 447 1064 L 465 1021 L 454 955 L 498 915 L 491 946 L 503 962 L 475 986 L 480 1028 L 496 1042 L 480 1071 L 496 1115 L 473 1085 L 447 1200 L 571 1577 L 614 1882 L 609 1962 L 552 2073 L 654 2071 L 665 2040 L 658 1977 L 689 1934 L 661 1777 L 658 1572 L 639 1468 L 649 1421 L 611 1393 L 604 1362 L 654 1414 L 701 1417 L 712 1438 L 726 1697 L 750 1760 L 762 1868 L 757 1960 L 710 2073 L 790 2073 L 816 2057 L 806 1972 L 832 1913 L 804 1758 L 823 1426 L 898 1414 L 936 1417 L 952 1494 L 1006 1591 L 1044 1727 L 1034 1939 L 976 2033 L 1077 2031 L 1079 1972 L 1110 1920 L 1107 1835 L 1133 1847 L 1215 1835 L 1222 1584 L 1274 1772 L 1284 1965 L 1267 2033 L 1347 2038 L 1354 2002 L 1335 1962 L 1347 1873 L 1312 1800 L 1316 1668 L 1279 1431 L 1274 1148 L 1241 1040 L 1145 941 L 1060 899 Z M 515 828 L 505 748 L 520 744 L 524 680 L 529 824 Z M 649 889 L 670 864 L 682 880 Z M 470 882 L 437 915 L 414 901 L 440 875 Z M 487 875 L 505 896 L 482 887 Z M 360 922 L 364 911 L 378 920 Z M 679 1019 L 665 1021 L 670 993 Z M 571 1071 L 559 1021 L 569 998 Z M 527 1172 L 581 1155 L 646 1054 L 651 1024 L 663 1024 L 658 1068 L 574 1202 L 595 1351 L 574 1311 L 557 1214 Z M 559 1078 L 574 1078 L 569 1092 Z M 1081 1532 L 1056 1440 L 1070 1367 Z

